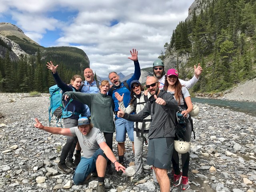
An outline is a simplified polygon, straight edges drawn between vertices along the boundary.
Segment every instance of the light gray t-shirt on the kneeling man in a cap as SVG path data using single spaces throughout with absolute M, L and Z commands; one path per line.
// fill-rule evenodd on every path
M 78 127 L 72 127 L 70 131 L 77 136 L 85 158 L 91 158 L 100 148 L 99 144 L 105 141 L 100 130 L 95 127 L 87 135 L 83 135 Z

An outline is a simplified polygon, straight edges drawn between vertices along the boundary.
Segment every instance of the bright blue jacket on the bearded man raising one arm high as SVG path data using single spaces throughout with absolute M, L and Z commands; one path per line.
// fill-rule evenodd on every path
M 131 82 L 132 82 L 133 80 L 139 80 L 139 79 L 140 79 L 140 64 L 139 64 L 139 62 L 138 62 L 138 60 L 137 60 L 136 62 L 134 62 L 134 74 L 133 74 L 133 76 L 132 76 L 130 79 L 126 80 L 126 82 L 127 82 L 127 84 L 130 86 L 130 84 L 131 84 Z M 118 88 L 118 89 L 115 89 L 115 90 L 113 91 L 113 94 L 110 95 L 110 96 L 112 96 L 112 99 L 114 100 L 115 111 L 118 111 L 119 105 L 118 105 L 118 100 L 117 100 L 117 98 L 115 97 L 114 92 L 118 92 L 120 95 L 124 94 L 124 99 L 123 99 L 124 106 L 125 106 L 125 107 L 128 107 L 128 104 L 129 104 L 129 102 L 130 102 L 130 100 L 131 100 L 130 91 L 126 88 L 126 86 L 124 86 L 124 83 L 123 83 L 123 82 L 122 82 L 118 87 L 116 87 L 116 86 L 114 86 L 114 87 L 115 87 L 115 88 L 120 87 L 120 88 Z M 116 118 L 118 118 L 118 117 L 116 116 Z

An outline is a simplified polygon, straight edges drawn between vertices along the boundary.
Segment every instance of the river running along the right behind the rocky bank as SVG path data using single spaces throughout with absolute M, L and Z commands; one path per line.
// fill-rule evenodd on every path
M 206 98 L 194 98 L 194 97 L 191 98 L 191 100 L 197 103 L 228 108 L 234 111 L 243 112 L 251 116 L 254 116 L 256 114 L 256 102 L 206 99 Z

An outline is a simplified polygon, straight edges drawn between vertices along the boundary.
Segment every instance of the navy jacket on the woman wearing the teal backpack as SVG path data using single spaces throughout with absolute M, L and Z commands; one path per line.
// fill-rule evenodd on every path
M 66 83 L 64 83 L 60 79 L 60 76 L 58 75 L 58 72 L 56 72 L 55 74 L 52 73 L 52 75 L 53 75 L 53 78 L 54 78 L 56 84 L 58 85 L 59 88 L 61 88 L 61 90 L 63 92 L 73 91 L 73 89 L 72 89 L 73 86 L 72 85 L 67 85 Z M 76 88 L 74 88 L 74 90 L 76 90 Z M 76 92 L 79 92 L 79 90 L 76 90 Z M 68 101 L 65 101 L 65 105 L 68 104 L 68 102 L 69 102 L 69 99 L 68 99 Z M 70 102 L 70 104 L 68 105 L 67 110 L 72 111 L 72 112 L 81 113 L 81 114 L 83 114 L 83 116 L 86 116 L 86 117 L 91 116 L 89 107 L 87 105 L 84 106 L 84 104 L 82 104 L 81 102 L 78 102 L 76 100 L 73 100 L 72 102 Z M 70 118 L 78 119 L 79 116 L 78 115 L 72 115 Z

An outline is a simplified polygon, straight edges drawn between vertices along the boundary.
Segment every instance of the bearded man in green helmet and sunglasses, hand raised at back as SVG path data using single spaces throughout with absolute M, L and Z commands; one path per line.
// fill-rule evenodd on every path
M 203 69 L 200 66 L 200 63 L 198 64 L 197 67 L 194 65 L 195 75 L 192 77 L 192 79 L 190 79 L 189 81 L 184 81 L 182 79 L 179 79 L 182 86 L 185 86 L 187 89 L 192 88 L 196 84 L 196 82 L 198 82 L 199 76 L 202 73 L 202 70 Z M 164 81 L 165 81 L 164 62 L 162 60 L 157 59 L 153 62 L 153 73 L 154 73 L 154 76 L 158 78 L 159 88 L 160 90 L 162 90 L 162 88 L 164 87 Z

